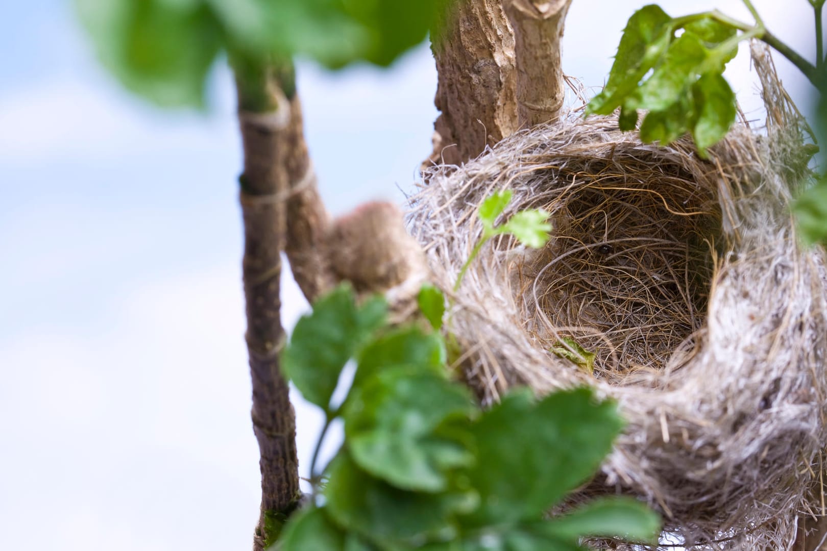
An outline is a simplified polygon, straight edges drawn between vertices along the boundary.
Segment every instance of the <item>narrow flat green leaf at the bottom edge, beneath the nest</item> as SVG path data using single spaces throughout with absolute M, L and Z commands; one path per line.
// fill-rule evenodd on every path
M 568 515 L 540 522 L 535 530 L 571 541 L 596 536 L 657 544 L 661 519 L 639 501 L 607 497 L 581 506 Z

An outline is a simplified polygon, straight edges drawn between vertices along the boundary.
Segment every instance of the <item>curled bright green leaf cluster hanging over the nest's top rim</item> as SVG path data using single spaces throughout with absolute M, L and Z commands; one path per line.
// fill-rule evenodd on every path
M 641 140 L 668 145 L 690 133 L 705 157 L 735 121 L 735 95 L 722 74 L 738 40 L 733 26 L 709 14 L 673 20 L 660 7 L 643 7 L 629 18 L 609 80 L 586 114 L 620 107 L 619 128 L 629 131 L 643 109 Z

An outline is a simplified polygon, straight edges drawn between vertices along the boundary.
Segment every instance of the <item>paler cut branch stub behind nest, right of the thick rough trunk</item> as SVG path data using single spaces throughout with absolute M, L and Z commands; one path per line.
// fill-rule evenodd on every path
M 554 121 L 566 97 L 561 39 L 571 0 L 503 0 L 514 30 L 520 128 Z

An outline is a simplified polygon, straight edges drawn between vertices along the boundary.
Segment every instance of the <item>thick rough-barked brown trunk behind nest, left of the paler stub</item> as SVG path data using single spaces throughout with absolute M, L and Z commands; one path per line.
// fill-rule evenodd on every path
M 433 33 L 442 114 L 428 164 L 461 164 L 517 130 L 514 37 L 500 0 L 445 3 Z

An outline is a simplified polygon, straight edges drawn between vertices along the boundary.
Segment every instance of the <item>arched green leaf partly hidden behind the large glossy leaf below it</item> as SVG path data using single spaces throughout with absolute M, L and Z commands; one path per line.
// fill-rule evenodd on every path
M 401 327 L 366 344 L 358 355 L 353 386 L 358 387 L 380 371 L 399 366 L 445 371 L 446 352 L 442 338 L 415 325 Z

